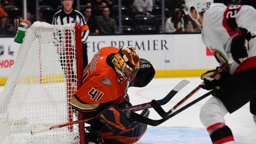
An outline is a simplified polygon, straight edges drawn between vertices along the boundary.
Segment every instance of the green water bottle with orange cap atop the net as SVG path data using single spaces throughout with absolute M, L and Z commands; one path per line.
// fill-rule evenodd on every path
M 23 42 L 23 38 L 25 36 L 27 27 L 28 27 L 28 21 L 26 19 L 22 19 L 21 22 L 19 23 L 19 28 L 14 38 L 14 42 L 18 42 L 18 43 Z

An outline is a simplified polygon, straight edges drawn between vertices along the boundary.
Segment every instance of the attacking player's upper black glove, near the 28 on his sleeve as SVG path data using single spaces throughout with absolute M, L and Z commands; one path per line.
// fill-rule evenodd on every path
M 250 38 L 251 33 L 244 28 L 237 28 L 233 33 L 230 51 L 238 64 L 248 58 L 248 41 Z

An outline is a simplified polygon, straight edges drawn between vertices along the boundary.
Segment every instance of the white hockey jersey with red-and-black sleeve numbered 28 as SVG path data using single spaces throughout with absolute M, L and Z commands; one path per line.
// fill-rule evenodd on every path
M 217 53 L 217 59 L 226 62 L 232 57 L 230 52 L 231 37 L 237 28 L 245 28 L 256 35 L 256 10 L 252 6 L 225 6 L 214 3 L 203 15 L 202 41 Z M 230 73 L 256 67 L 256 38 L 249 41 L 249 58 L 240 65 L 236 62 L 230 66 Z

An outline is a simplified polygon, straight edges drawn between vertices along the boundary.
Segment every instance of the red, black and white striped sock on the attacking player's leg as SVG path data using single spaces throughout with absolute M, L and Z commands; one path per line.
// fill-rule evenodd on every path
M 207 127 L 213 144 L 234 143 L 233 134 L 225 123 L 216 123 Z

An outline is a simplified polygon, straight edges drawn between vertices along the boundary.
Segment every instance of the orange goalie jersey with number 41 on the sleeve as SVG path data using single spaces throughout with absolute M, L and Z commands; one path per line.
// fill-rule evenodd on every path
M 83 71 L 83 86 L 77 90 L 70 104 L 82 113 L 94 112 L 101 103 L 121 103 L 126 96 L 129 78 L 119 83 L 110 57 L 119 51 L 115 47 L 103 47 Z M 88 116 L 88 115 L 87 115 Z

